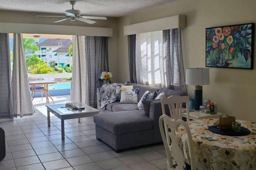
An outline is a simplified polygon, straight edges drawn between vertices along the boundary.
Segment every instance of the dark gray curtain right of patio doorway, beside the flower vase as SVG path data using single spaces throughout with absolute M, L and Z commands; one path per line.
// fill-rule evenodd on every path
M 109 71 L 108 37 L 86 37 L 86 98 L 87 105 L 97 107 L 97 88 L 102 86 L 98 74 Z

